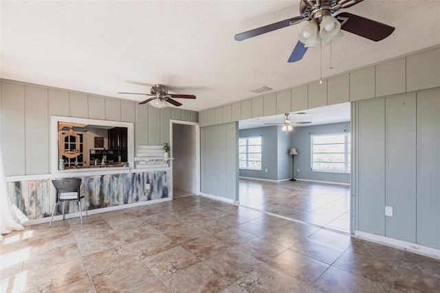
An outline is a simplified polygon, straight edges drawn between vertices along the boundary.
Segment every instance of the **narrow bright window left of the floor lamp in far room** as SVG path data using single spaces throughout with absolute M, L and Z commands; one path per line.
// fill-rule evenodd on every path
M 239 168 L 261 170 L 261 136 L 239 138 Z

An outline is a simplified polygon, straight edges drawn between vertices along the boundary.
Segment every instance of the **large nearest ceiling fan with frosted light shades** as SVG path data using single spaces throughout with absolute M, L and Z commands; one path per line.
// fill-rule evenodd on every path
M 382 41 L 391 35 L 395 28 L 348 12 L 340 13 L 341 9 L 349 8 L 362 1 L 364 0 L 301 0 L 299 17 L 236 34 L 235 39 L 243 41 L 289 25 L 296 25 L 302 21 L 309 21 L 300 32 L 299 41 L 287 61 L 289 63 L 303 58 L 308 47 L 327 45 L 331 40 L 338 39 L 342 36 L 340 30 L 357 34 L 371 41 Z

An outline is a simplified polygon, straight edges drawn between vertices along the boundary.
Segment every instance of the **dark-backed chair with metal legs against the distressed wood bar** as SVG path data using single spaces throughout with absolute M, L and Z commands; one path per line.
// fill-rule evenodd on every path
M 54 204 L 54 210 L 52 210 L 52 217 L 50 218 L 49 228 L 52 226 L 52 220 L 54 219 L 54 213 L 56 204 L 58 202 L 63 202 L 63 219 L 65 218 L 65 201 L 66 200 L 76 200 L 78 201 L 78 207 L 80 208 L 80 219 L 81 225 L 83 225 L 83 213 L 81 212 L 81 202 L 80 199 L 84 197 L 84 194 L 80 192 L 81 180 L 80 179 L 61 179 L 52 180 L 56 188 L 56 202 Z M 84 203 L 85 214 L 89 217 L 87 213 L 87 207 Z

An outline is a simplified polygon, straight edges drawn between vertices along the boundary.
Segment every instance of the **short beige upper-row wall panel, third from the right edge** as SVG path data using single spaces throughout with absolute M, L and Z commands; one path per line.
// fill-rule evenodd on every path
M 375 67 L 350 73 L 350 101 L 375 97 Z

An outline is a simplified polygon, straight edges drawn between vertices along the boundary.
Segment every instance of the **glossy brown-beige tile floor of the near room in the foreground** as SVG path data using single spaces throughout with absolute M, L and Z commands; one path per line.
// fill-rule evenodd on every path
M 0 292 L 439 292 L 440 261 L 199 196 L 28 226 Z

